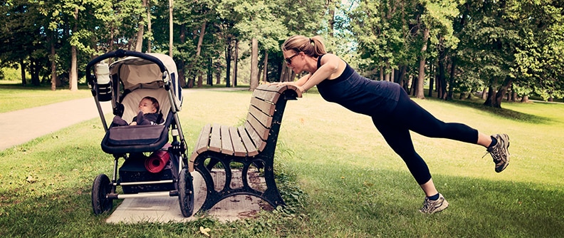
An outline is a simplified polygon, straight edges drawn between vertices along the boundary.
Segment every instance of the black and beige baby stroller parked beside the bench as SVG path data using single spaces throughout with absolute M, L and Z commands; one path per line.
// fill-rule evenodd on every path
M 121 59 L 108 66 L 103 62 L 108 58 Z M 118 50 L 90 61 L 86 75 L 105 130 L 102 150 L 114 157 L 112 179 L 100 174 L 93 182 L 94 213 L 110 211 L 117 199 L 177 196 L 182 215 L 192 216 L 194 188 L 177 115 L 182 88 L 172 58 L 159 53 Z M 113 115 L 127 121 L 137 115 L 138 103 L 145 96 L 157 99 L 158 115 L 164 123 L 117 126 L 112 122 L 108 127 L 100 102 L 111 101 Z M 125 161 L 118 178 L 120 157 Z M 122 187 L 122 194 L 117 193 L 117 186 Z

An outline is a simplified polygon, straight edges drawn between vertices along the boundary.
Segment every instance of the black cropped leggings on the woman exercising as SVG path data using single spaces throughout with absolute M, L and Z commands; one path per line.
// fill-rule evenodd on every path
M 438 120 L 411 100 L 404 90 L 401 90 L 395 110 L 390 115 L 373 116 L 372 122 L 392 150 L 402 157 L 419 185 L 429 182 L 431 173 L 423 158 L 415 152 L 409 130 L 429 138 L 478 143 L 478 130 L 461 123 L 444 123 Z

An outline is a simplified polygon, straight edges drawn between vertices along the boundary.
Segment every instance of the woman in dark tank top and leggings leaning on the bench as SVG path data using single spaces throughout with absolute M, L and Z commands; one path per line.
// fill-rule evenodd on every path
M 343 59 L 325 51 L 320 36 L 292 36 L 282 45 L 288 67 L 308 75 L 287 82 L 302 92 L 317 86 L 323 99 L 338 103 L 355 113 L 372 117 L 386 142 L 409 168 L 425 193 L 420 212 L 432 214 L 449 206 L 433 184 L 429 167 L 413 148 L 409 130 L 429 138 L 448 138 L 482 145 L 491 154 L 496 172 L 509 162 L 506 134 L 486 135 L 461 123 L 444 123 L 414 103 L 397 83 L 372 81 L 360 76 Z M 280 83 L 286 84 L 286 83 Z

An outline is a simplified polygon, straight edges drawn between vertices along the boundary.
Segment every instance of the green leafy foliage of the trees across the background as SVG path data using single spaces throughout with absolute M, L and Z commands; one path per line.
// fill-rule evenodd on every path
M 117 48 L 135 48 L 141 40 L 137 39 L 140 28 L 145 29 L 142 51 L 168 53 L 168 4 L 6 1 L 0 6 L 4 16 L 0 19 L 0 61 L 2 66 L 20 65 L 32 74 L 33 82 L 48 82 L 50 61 L 56 63 L 56 75 L 68 73 L 71 46 L 75 46 L 78 72 L 83 76 L 90 58 Z M 198 73 L 225 75 L 232 73 L 224 70 L 232 60 L 228 57 L 233 57 L 234 43 L 247 44 L 256 38 L 258 58 L 263 60 L 268 52 L 266 71 L 269 80 L 276 80 L 283 65 L 281 42 L 294 34 L 319 34 L 328 51 L 370 78 L 376 78 L 380 68 L 383 73 L 407 68 L 407 75 L 413 76 L 424 56 L 428 64 L 444 64 L 447 73 L 454 67 L 454 78 L 442 76 L 454 91 L 478 85 L 500 89 L 510 79 L 516 88 L 526 88 L 520 94 L 560 97 L 564 88 L 563 7 L 557 0 L 176 0 L 172 50 L 186 78 Z M 196 57 L 202 26 L 204 38 Z M 430 31 L 427 41 L 425 29 Z M 427 51 L 422 51 L 424 45 Z M 249 52 L 240 54 L 241 59 L 249 56 Z

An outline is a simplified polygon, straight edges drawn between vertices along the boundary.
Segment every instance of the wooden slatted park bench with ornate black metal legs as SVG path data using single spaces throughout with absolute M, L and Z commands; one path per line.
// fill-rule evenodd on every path
M 197 170 L 206 182 L 206 200 L 200 211 L 207 211 L 221 200 L 235 195 L 259 197 L 273 207 L 285 205 L 274 180 L 274 151 L 286 101 L 298 98 L 301 98 L 301 92 L 296 86 L 261 85 L 254 90 L 244 125 L 208 124 L 202 128 L 189 160 L 189 171 Z M 242 165 L 242 187 L 231 185 L 232 163 Z M 266 190 L 249 186 L 247 175 L 251 165 L 263 167 Z M 211 170 L 214 167 L 225 172 L 223 186 L 216 187 L 214 184 L 211 175 L 216 173 Z

